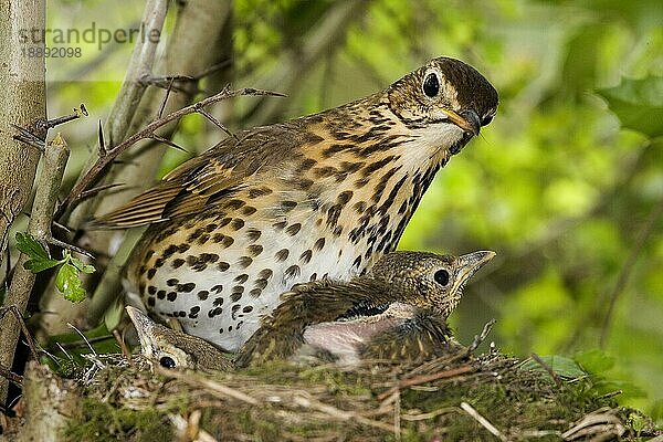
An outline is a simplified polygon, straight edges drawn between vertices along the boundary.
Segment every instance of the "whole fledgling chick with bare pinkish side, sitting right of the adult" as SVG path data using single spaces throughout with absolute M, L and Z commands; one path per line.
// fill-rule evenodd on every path
M 262 319 L 236 365 L 290 358 L 305 345 L 340 364 L 439 356 L 457 346 L 445 319 L 463 286 L 493 256 L 491 251 L 459 257 L 392 252 L 348 282 L 298 284 Z

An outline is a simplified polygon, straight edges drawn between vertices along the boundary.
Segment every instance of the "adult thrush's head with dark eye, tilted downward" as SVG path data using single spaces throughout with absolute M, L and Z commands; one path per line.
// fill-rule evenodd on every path
M 474 67 L 439 57 L 409 73 L 387 91 L 391 112 L 418 136 L 457 154 L 491 123 L 497 91 Z

